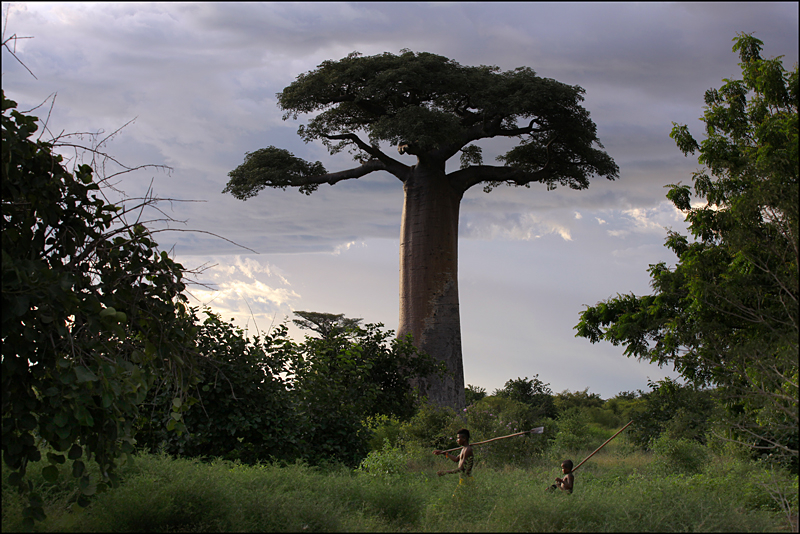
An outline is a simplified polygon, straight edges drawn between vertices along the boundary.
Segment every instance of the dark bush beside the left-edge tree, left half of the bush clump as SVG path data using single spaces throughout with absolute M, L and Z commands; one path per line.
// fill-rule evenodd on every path
M 197 399 L 183 415 L 187 432 L 169 432 L 172 417 L 168 387 L 152 388 L 149 410 L 137 422 L 137 445 L 163 448 L 176 456 L 220 457 L 255 463 L 294 460 L 301 456 L 287 371 L 296 358 L 295 344 L 280 325 L 263 338 L 247 338 L 241 328 L 210 310 L 198 326 L 197 351 L 207 359 L 199 366 Z M 166 385 L 166 384 L 165 384 Z

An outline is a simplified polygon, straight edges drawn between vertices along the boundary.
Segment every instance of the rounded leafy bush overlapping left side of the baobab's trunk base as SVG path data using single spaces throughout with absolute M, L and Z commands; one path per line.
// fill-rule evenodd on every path
M 315 455 L 357 464 L 366 454 L 367 420 L 409 419 L 418 395 L 408 378 L 443 373 L 441 364 L 419 354 L 407 337 L 390 340 L 393 333 L 382 326 L 306 337 L 297 348 L 301 357 L 291 372 L 307 452 L 313 447 Z

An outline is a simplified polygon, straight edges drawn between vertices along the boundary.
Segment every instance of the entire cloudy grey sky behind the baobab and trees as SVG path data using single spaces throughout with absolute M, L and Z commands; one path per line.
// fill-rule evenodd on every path
M 281 119 L 275 95 L 297 75 L 353 51 L 409 48 L 462 65 L 527 66 L 585 88 L 620 178 L 595 179 L 584 191 L 468 191 L 461 327 L 468 384 L 491 393 L 538 374 L 553 391 L 588 387 L 603 398 L 675 376 L 573 330 L 586 305 L 647 293 L 648 265 L 674 264 L 665 229 L 685 224 L 664 186 L 690 182 L 698 165 L 669 138 L 672 122 L 702 138 L 703 93 L 740 75 L 731 52 L 737 32 L 754 33 L 764 55 L 784 55 L 787 68 L 798 50 L 794 2 L 4 3 L 3 21 L 4 39 L 33 37 L 15 50 L 36 76 L 4 50 L 6 95 L 21 110 L 45 102 L 34 114 L 50 113 L 52 133 L 108 134 L 135 118 L 108 152 L 172 171 L 128 174 L 117 187 L 135 197 L 152 184 L 159 197 L 198 201 L 161 204 L 185 221 L 172 228 L 198 232 L 160 233 L 158 241 L 186 267 L 208 267 L 198 280 L 209 287 L 193 286 L 193 302 L 251 334 L 293 310 L 397 327 L 396 178 L 374 173 L 310 197 L 268 190 L 243 202 L 221 193 L 245 152 L 268 145 L 328 169 L 352 165 L 303 144 L 303 117 Z M 485 144 L 484 158 L 507 149 Z

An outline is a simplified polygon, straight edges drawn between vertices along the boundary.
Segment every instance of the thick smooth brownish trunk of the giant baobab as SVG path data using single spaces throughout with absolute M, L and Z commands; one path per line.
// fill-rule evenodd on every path
M 458 210 L 462 191 L 444 170 L 417 166 L 404 185 L 400 230 L 400 325 L 414 345 L 443 361 L 448 375 L 415 382 L 440 406 L 464 407 L 458 308 Z

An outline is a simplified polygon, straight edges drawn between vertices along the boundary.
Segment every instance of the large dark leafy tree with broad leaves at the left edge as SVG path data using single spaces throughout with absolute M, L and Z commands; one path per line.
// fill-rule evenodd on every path
M 192 377 L 183 268 L 103 199 L 91 167 L 70 173 L 53 144 L 31 139 L 36 117 L 5 93 L 2 108 L 3 461 L 9 482 L 28 491 L 27 466 L 46 443 L 54 452 L 45 479 L 75 460 L 85 505 L 117 484 L 114 467 L 133 452 L 138 405 L 154 380 L 172 375 L 180 386 Z M 90 460 L 103 480 L 90 480 Z M 26 514 L 44 517 L 35 493 Z

